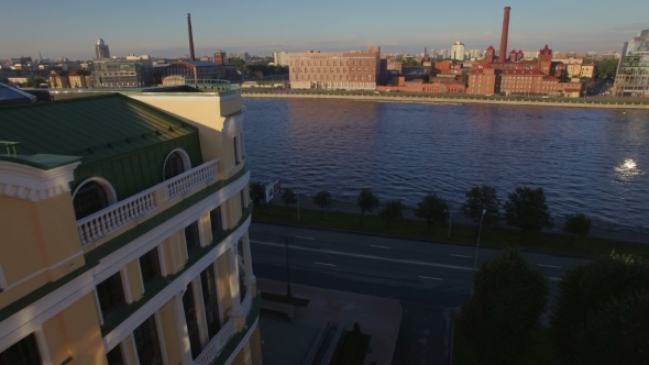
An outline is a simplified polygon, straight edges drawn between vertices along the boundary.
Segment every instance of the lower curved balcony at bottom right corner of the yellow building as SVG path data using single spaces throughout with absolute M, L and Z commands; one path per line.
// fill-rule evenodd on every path
M 237 347 L 237 345 L 239 344 L 239 341 L 241 341 L 243 339 L 243 336 L 245 335 L 248 330 L 251 329 L 252 324 L 257 319 L 258 302 L 261 300 L 261 296 L 257 296 L 255 303 L 253 306 L 253 299 L 252 299 L 251 291 L 252 290 L 246 290 L 245 297 L 243 297 L 243 302 L 241 303 L 241 306 L 243 307 L 244 312 L 245 312 L 245 328 L 240 333 L 241 335 L 238 336 L 237 341 L 232 342 L 232 346 L 231 346 L 232 349 L 229 349 L 229 350 L 234 350 L 234 347 Z M 254 310 L 252 310 L 252 309 L 254 309 Z M 202 350 L 200 355 L 198 355 L 198 357 L 196 357 L 196 360 L 194 361 L 194 365 L 213 364 L 215 360 L 217 357 L 219 357 L 221 355 L 221 353 L 223 353 L 223 354 L 226 353 L 226 352 L 223 352 L 223 350 L 226 349 L 227 345 L 229 345 L 230 340 L 232 340 L 232 338 L 234 338 L 234 335 L 237 335 L 237 330 L 234 328 L 234 321 L 235 321 L 235 319 L 231 318 L 228 321 L 228 323 L 226 323 L 226 325 L 223 325 L 223 328 L 219 331 L 219 333 L 217 333 L 217 335 L 212 338 L 212 340 L 207 344 L 207 346 L 205 346 L 205 349 Z

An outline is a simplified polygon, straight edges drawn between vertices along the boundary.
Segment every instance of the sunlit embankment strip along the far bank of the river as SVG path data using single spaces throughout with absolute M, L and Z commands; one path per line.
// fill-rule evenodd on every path
M 381 92 L 381 93 L 352 93 L 345 91 L 253 91 L 242 92 L 244 98 L 272 98 L 272 99 L 352 99 L 360 101 L 402 102 L 402 103 L 430 103 L 460 106 L 465 103 L 506 104 L 527 107 L 563 107 L 563 108 L 595 108 L 595 109 L 640 109 L 649 110 L 649 101 L 617 100 L 586 98 L 538 98 L 538 97 L 486 97 L 486 96 L 437 96 L 424 93 Z

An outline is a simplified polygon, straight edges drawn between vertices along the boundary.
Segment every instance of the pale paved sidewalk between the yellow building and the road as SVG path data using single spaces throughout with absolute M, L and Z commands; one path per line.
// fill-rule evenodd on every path
M 257 278 L 261 291 L 286 295 L 286 283 Z M 346 325 L 354 322 L 361 325 L 361 332 L 372 336 L 365 356 L 365 365 L 391 365 L 403 309 L 398 300 L 370 297 L 353 292 L 321 289 L 304 285 L 290 286 L 295 297 L 310 300 L 308 307 L 296 308 L 300 320 L 330 320 L 333 325 Z M 262 336 L 264 329 L 262 328 Z

